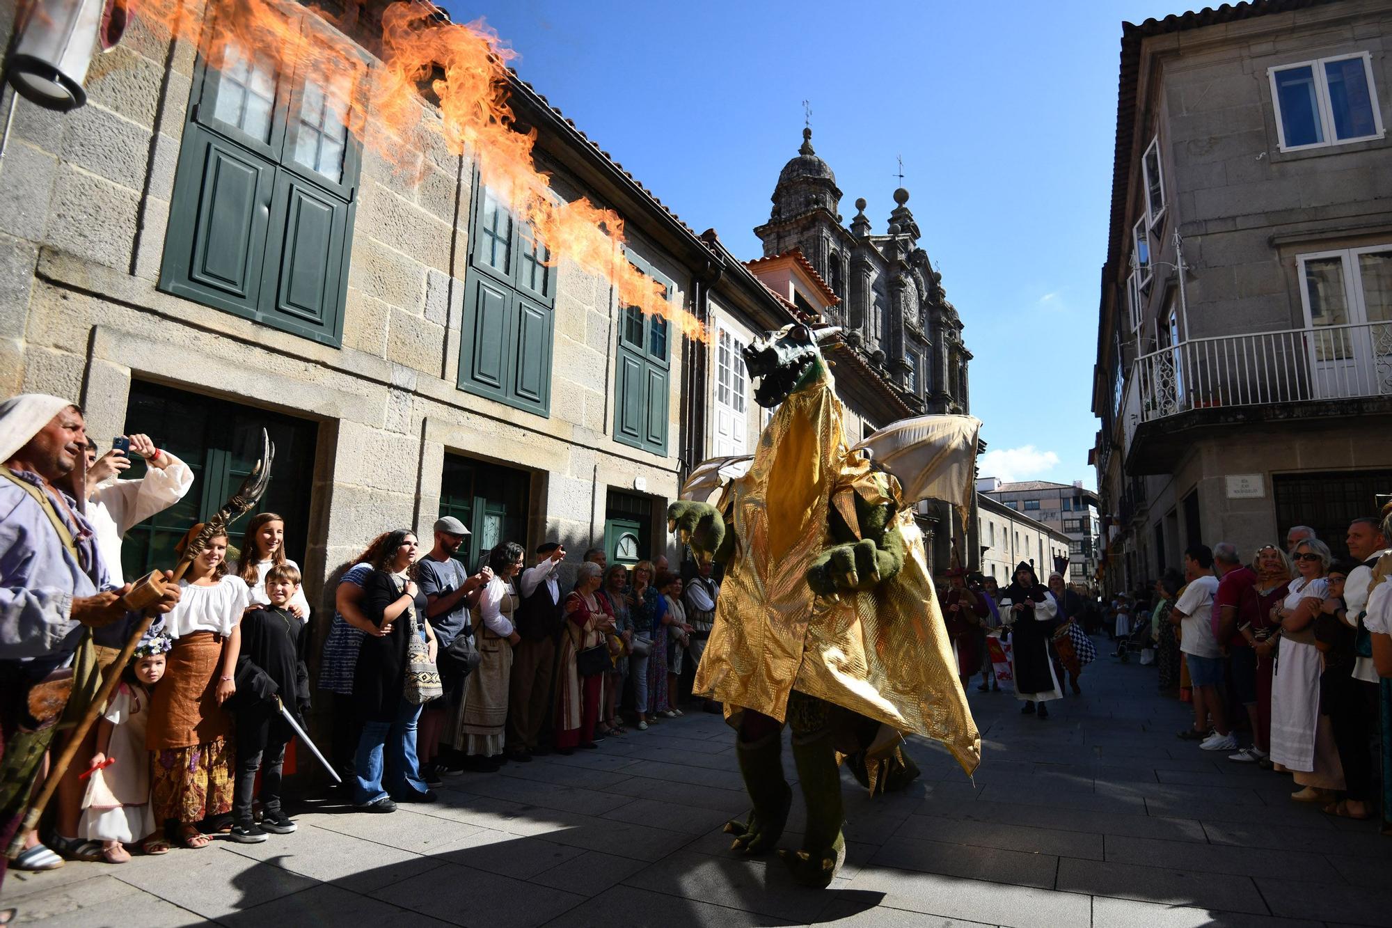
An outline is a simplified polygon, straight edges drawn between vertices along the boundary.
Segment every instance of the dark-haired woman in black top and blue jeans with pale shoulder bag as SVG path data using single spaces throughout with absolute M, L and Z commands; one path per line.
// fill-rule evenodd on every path
M 354 758 L 355 801 L 366 812 L 394 812 L 397 803 L 434 801 L 416 758 L 420 706 L 405 698 L 409 637 L 423 637 L 430 659 L 436 658 L 426 595 L 408 575 L 416 550 L 415 532 L 391 532 L 362 588 L 362 613 L 383 633 L 363 637 L 354 667 L 354 705 L 362 719 Z M 384 764 L 387 754 L 390 764 Z

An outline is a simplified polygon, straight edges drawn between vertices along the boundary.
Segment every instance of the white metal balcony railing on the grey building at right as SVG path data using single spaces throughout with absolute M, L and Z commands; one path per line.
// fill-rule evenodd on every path
M 1392 322 L 1193 339 L 1141 355 L 1140 418 L 1392 396 Z

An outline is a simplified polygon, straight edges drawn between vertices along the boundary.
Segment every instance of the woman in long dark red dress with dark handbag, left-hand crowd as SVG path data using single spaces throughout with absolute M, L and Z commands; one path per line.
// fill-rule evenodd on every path
M 593 562 L 580 564 L 575 575 L 575 589 L 565 598 L 565 628 L 561 633 L 555 670 L 558 754 L 574 754 L 578 747 L 594 747 L 594 725 L 600 718 L 604 670 L 599 667 L 590 673 L 592 667 L 582 655 L 592 648 L 601 648 L 604 662 L 608 663 L 604 635 L 614 630 L 614 616 L 608 610 L 608 601 L 599 595 L 601 573 L 600 566 Z

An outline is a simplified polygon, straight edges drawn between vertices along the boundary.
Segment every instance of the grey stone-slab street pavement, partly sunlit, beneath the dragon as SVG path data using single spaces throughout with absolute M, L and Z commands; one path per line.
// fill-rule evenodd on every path
M 319 808 L 263 844 L 11 874 L 3 904 L 74 928 L 1392 925 L 1392 839 L 1176 740 L 1187 706 L 1155 695 L 1153 667 L 1104 656 L 1083 680 L 1047 722 L 973 687 L 974 783 L 927 744 L 908 793 L 870 801 L 846 776 L 849 856 L 827 892 L 727 851 L 720 826 L 746 803 L 731 732 L 699 713 L 448 779 L 437 805 Z

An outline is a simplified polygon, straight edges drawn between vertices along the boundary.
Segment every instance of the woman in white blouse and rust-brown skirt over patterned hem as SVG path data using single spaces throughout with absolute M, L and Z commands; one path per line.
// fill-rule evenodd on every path
M 195 525 L 182 552 L 203 529 Z M 178 823 L 184 847 L 207 847 L 198 822 L 232 811 L 232 718 L 223 711 L 241 651 L 246 582 L 227 573 L 227 536 L 214 535 L 180 581 L 181 598 L 164 616 L 174 640 L 163 683 L 150 701 L 145 732 L 152 752 L 150 803 L 155 821 Z

